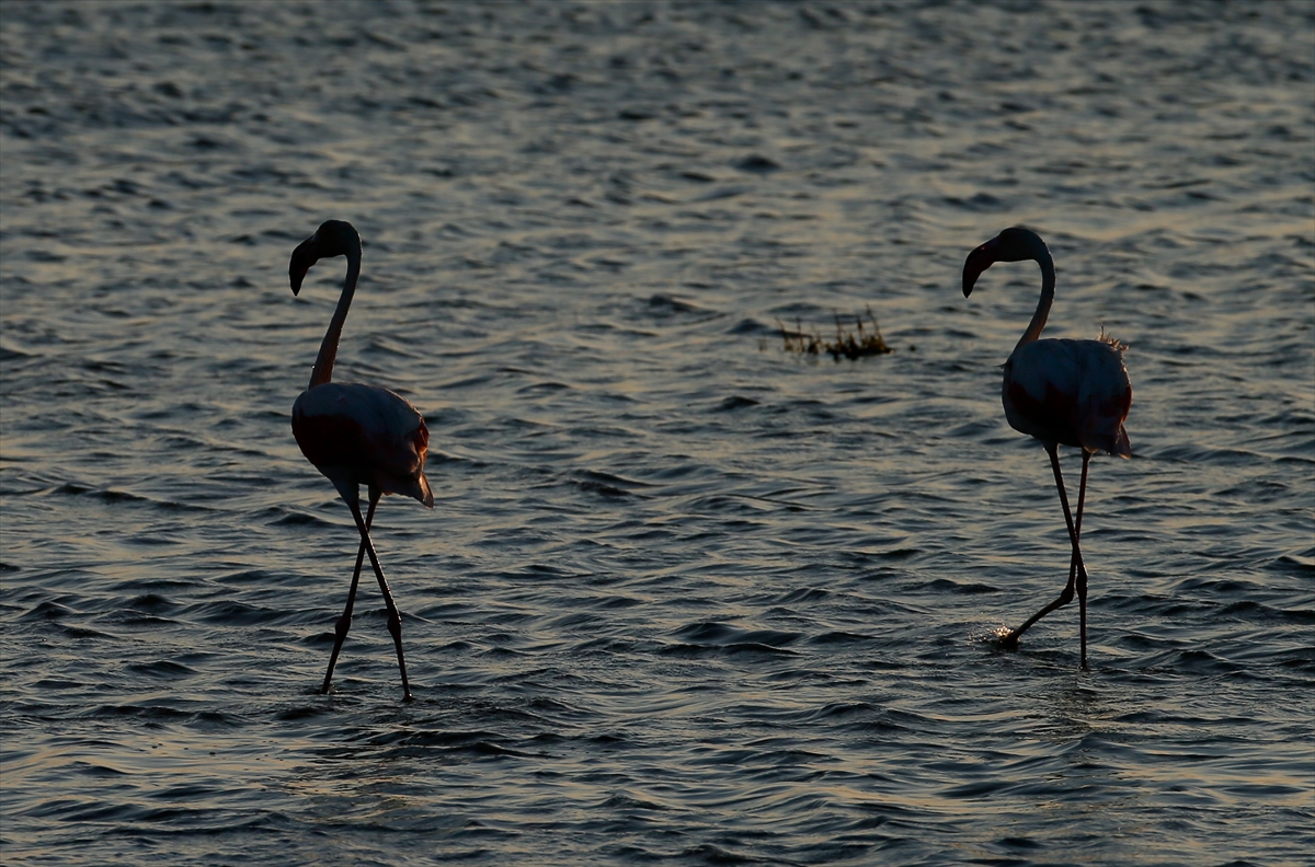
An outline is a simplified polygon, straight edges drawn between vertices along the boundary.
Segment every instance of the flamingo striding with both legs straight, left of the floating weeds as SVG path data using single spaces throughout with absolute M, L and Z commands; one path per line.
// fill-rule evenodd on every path
M 333 667 L 338 662 L 342 642 L 351 628 L 351 607 L 356 599 L 356 585 L 366 556 L 379 579 L 379 589 L 388 606 L 388 632 L 393 636 L 397 649 L 397 667 L 402 675 L 402 699 L 412 700 L 410 683 L 406 680 L 406 659 L 402 656 L 402 619 L 388 591 L 388 581 L 379 566 L 379 556 L 370 540 L 370 525 L 375 518 L 375 507 L 383 494 L 405 494 L 414 497 L 426 507 L 434 507 L 434 494 L 425 478 L 425 456 L 429 452 L 429 428 L 425 419 L 402 397 L 388 389 L 363 382 L 333 382 L 333 363 L 338 355 L 338 339 L 347 321 L 347 309 L 356 292 L 360 277 L 360 234 L 355 226 L 341 219 L 326 221 L 292 251 L 288 277 L 292 281 L 292 294 L 301 290 L 310 265 L 320 259 L 333 256 L 347 257 L 347 278 L 342 285 L 342 296 L 329 330 L 320 344 L 316 367 L 310 372 L 310 385 L 292 405 L 292 435 L 316 469 L 320 470 L 347 502 L 351 516 L 360 532 L 360 550 L 356 553 L 356 569 L 351 575 L 351 590 L 347 592 L 347 607 L 334 625 L 333 654 L 329 657 L 329 671 L 321 687 L 329 692 L 333 682 Z M 370 507 L 360 514 L 360 486 L 364 485 Z

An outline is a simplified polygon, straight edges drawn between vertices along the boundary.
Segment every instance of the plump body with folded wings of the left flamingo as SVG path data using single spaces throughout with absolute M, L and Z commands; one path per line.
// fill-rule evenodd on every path
M 292 405 L 292 434 L 302 455 L 330 481 L 373 485 L 430 508 L 425 478 L 429 428 L 398 394 L 362 382 L 325 382 Z

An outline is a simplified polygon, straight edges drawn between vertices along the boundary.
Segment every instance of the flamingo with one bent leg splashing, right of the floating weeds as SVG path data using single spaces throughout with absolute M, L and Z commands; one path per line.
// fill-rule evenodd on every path
M 1056 608 L 1078 598 L 1081 667 L 1086 669 L 1086 566 L 1078 537 L 1082 531 L 1082 504 L 1086 499 L 1086 472 L 1097 452 L 1131 457 L 1132 445 L 1123 422 L 1132 406 L 1132 382 L 1123 367 L 1124 345 L 1101 334 L 1098 340 L 1041 340 L 1041 328 L 1055 300 L 1055 260 L 1041 236 L 1014 226 L 968 254 L 964 263 L 964 297 L 973 292 L 977 277 L 997 261 L 1032 260 L 1041 267 L 1041 298 L 1023 336 L 1005 361 L 1002 399 L 1005 418 L 1019 434 L 1041 441 L 1051 456 L 1055 486 L 1064 507 L 1073 554 L 1068 585 L 1059 598 L 1032 615 L 1018 629 L 1003 633 L 999 645 L 1016 648 L 1028 628 Z M 1082 449 L 1082 481 L 1077 494 L 1077 518 L 1069 511 L 1057 447 Z

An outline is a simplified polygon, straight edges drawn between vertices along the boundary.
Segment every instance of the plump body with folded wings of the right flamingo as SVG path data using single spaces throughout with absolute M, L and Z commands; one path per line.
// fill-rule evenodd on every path
M 1111 340 L 1034 340 L 1005 363 L 1005 416 L 1043 443 L 1130 457 L 1132 382 Z

